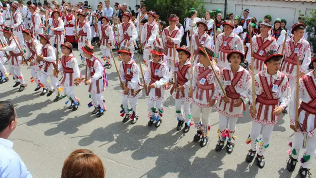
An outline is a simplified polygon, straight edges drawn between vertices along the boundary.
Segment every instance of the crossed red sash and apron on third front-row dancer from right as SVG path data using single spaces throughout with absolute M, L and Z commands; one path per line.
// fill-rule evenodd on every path
M 230 75 L 229 75 L 229 70 L 226 70 L 226 69 L 223 70 L 225 81 L 231 81 L 230 85 L 227 85 L 225 88 L 227 97 L 231 99 L 230 106 L 229 106 L 229 112 L 233 111 L 235 100 L 238 100 L 241 97 L 241 95 L 239 93 L 237 93 L 235 86 L 239 82 L 239 80 L 242 78 L 242 76 L 244 76 L 244 73 L 245 73 L 245 71 L 236 72 L 234 78 L 231 80 Z M 220 99 L 219 107 L 222 104 L 223 97 L 224 96 L 222 96 Z M 223 110 L 226 109 L 226 105 L 227 105 L 227 103 L 224 102 L 224 109 Z M 246 110 L 246 105 L 244 102 L 243 102 L 243 110 Z

